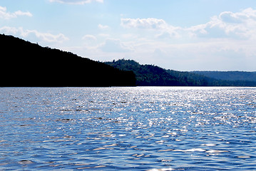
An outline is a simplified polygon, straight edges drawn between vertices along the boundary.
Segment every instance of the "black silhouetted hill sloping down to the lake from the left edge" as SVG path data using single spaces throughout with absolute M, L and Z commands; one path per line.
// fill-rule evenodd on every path
M 0 34 L 0 86 L 135 86 L 121 71 L 73 53 Z

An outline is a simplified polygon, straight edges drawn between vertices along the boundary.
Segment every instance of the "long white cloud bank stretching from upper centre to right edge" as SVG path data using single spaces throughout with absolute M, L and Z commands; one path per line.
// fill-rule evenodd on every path
M 172 26 L 163 19 L 121 19 L 123 28 L 155 31 L 155 38 L 232 38 L 256 39 L 256 10 L 224 11 L 205 24 L 182 28 Z

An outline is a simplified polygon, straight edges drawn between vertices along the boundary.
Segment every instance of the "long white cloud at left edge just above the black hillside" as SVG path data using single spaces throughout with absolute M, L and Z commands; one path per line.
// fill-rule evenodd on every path
M 4 26 L 0 28 L 0 32 L 12 34 L 14 36 L 21 36 L 22 38 L 29 39 L 29 41 L 44 41 L 48 43 L 63 43 L 63 41 L 68 41 L 68 38 L 62 33 L 54 35 L 51 33 L 41 33 L 36 30 L 24 30 L 22 27 L 14 28 Z

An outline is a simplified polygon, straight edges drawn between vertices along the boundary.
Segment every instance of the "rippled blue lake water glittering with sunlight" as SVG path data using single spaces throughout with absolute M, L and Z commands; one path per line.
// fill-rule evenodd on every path
M 256 88 L 0 88 L 0 170 L 255 170 Z

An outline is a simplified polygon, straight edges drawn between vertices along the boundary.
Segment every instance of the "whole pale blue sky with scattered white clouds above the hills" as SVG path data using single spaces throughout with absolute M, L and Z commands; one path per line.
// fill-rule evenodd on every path
M 0 33 L 95 61 L 256 71 L 255 0 L 1 0 Z

